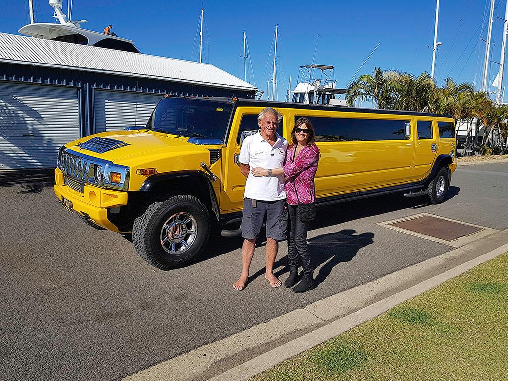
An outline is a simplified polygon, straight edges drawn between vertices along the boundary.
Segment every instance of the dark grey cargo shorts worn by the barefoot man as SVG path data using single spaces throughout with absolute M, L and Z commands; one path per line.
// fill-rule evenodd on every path
M 288 206 L 285 200 L 256 201 L 252 206 L 251 199 L 243 199 L 242 210 L 242 237 L 247 239 L 258 238 L 266 215 L 266 236 L 283 241 L 287 238 Z

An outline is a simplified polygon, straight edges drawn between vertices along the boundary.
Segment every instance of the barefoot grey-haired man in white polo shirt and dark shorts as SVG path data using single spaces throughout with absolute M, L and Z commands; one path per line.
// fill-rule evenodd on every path
M 288 141 L 277 133 L 282 115 L 271 107 L 263 109 L 258 115 L 261 130 L 248 136 L 240 148 L 240 171 L 247 178 L 243 194 L 242 211 L 242 273 L 233 284 L 235 290 L 243 290 L 249 276 L 249 267 L 256 239 L 266 216 L 266 274 L 274 288 L 282 284 L 273 274 L 273 264 L 277 257 L 279 241 L 286 239 L 288 228 L 288 209 L 285 205 L 284 175 L 256 177 L 250 168 L 262 167 L 271 171 L 282 167 Z

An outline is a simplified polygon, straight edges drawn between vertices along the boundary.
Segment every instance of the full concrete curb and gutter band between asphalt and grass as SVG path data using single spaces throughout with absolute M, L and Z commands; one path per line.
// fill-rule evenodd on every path
M 398 295 L 398 293 L 404 292 L 408 290 L 408 288 L 414 287 L 416 284 L 421 284 L 421 282 L 441 274 L 444 270 L 456 268 L 457 264 L 469 263 L 467 261 L 473 258 L 479 258 L 482 254 L 486 255 L 490 250 L 503 244 L 508 245 L 508 229 L 498 231 L 488 237 L 478 239 L 462 247 L 385 275 L 366 284 L 321 299 L 303 308 L 298 308 L 277 316 L 267 323 L 251 327 L 232 336 L 203 345 L 195 350 L 161 363 L 154 364 L 136 373 L 125 376 L 123 380 L 202 380 L 217 374 L 217 371 L 228 369 L 228 367 L 231 367 L 231 369 L 223 373 L 227 374 L 227 376 L 219 375 L 216 377 L 223 378 L 215 377 L 211 379 L 246 379 L 252 374 L 262 372 L 280 361 L 327 340 L 329 336 L 326 334 L 326 332 L 328 332 L 326 327 L 330 326 L 328 329 L 333 329 L 333 327 L 339 325 L 339 327 L 349 327 L 347 329 L 351 329 L 361 322 L 361 316 L 370 316 L 366 318 L 367 320 L 375 316 L 375 314 L 372 315 L 372 310 L 368 308 L 377 305 L 376 303 L 379 303 L 378 301 L 385 300 L 386 298 L 393 298 L 395 295 Z M 508 250 L 508 247 L 506 249 Z M 425 290 L 420 292 L 423 291 Z M 397 301 L 397 303 L 400 303 L 402 300 L 405 299 L 401 299 Z M 382 304 L 382 306 L 384 305 L 385 304 Z M 382 313 L 384 310 L 380 309 L 379 311 L 380 312 L 377 314 Z M 347 319 L 345 319 L 345 317 L 347 317 Z M 337 323 L 339 321 L 342 323 Z M 316 329 L 317 327 L 322 328 Z M 272 353 L 270 356 L 276 356 L 274 359 L 277 360 L 276 362 L 271 360 L 271 362 L 266 362 L 266 360 L 262 360 L 261 362 L 266 364 L 264 369 L 261 369 L 261 365 L 255 362 L 255 360 L 259 358 L 264 359 L 263 356 L 266 356 L 266 353 L 244 364 L 235 366 L 235 364 L 238 364 L 238 359 L 235 361 L 235 356 L 241 353 L 248 358 L 256 356 L 256 354 L 262 353 L 261 351 L 263 351 L 264 347 L 267 347 L 267 350 L 269 350 L 273 348 L 277 341 L 283 342 L 284 337 L 287 337 L 288 334 L 298 335 L 299 332 L 309 332 L 309 330 L 314 331 L 290 341 L 293 343 L 293 346 L 288 347 L 289 343 L 286 343 L 273 349 L 273 351 L 276 351 L 275 353 L 272 351 L 267 352 Z M 316 336 L 312 336 L 314 332 Z M 331 337 L 341 333 L 339 328 L 335 328 L 330 332 L 333 332 Z M 319 341 L 320 338 L 322 339 L 321 341 Z M 279 348 L 282 347 L 284 349 L 280 353 L 277 352 Z M 247 368 L 245 367 L 250 366 L 253 366 L 252 372 L 249 372 L 249 375 L 245 376 L 246 378 L 242 378 L 242 374 L 247 374 Z M 238 369 L 243 370 L 239 371 Z M 232 375 L 235 376 L 232 377 Z

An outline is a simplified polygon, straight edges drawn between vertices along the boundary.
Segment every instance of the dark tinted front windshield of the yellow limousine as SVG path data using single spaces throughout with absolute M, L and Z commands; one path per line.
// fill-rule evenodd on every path
M 147 129 L 224 143 L 233 105 L 188 98 L 164 98 L 148 120 Z

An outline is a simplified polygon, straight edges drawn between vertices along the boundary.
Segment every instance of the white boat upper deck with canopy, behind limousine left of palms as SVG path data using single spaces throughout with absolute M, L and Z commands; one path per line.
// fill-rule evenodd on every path
M 314 73 L 318 73 L 313 77 Z M 292 91 L 292 102 L 347 106 L 343 99 L 335 99 L 338 94 L 344 94 L 346 89 L 336 88 L 337 80 L 333 73 L 333 66 L 326 65 L 305 65 L 300 66 L 302 82 L 299 82 Z

